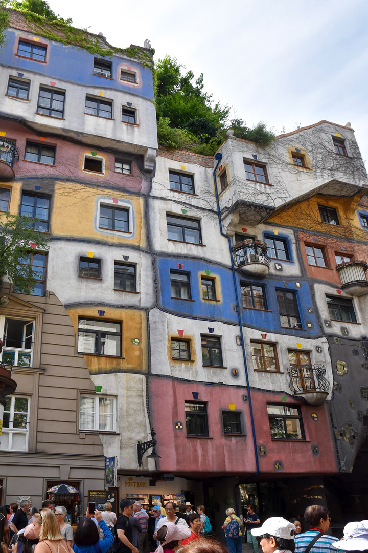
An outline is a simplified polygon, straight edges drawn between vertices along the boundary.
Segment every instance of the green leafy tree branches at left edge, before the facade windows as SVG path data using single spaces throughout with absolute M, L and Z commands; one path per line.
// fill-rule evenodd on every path
M 29 253 L 48 249 L 48 234 L 33 230 L 36 219 L 27 215 L 5 213 L 0 218 L 0 284 L 6 275 L 17 291 L 29 294 L 34 291 L 38 276 L 36 270 L 27 264 Z

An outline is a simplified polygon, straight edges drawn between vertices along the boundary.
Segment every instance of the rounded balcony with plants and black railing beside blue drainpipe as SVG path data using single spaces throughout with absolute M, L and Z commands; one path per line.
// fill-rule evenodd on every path
M 232 247 L 234 265 L 252 276 L 262 278 L 270 270 L 267 244 L 260 240 L 239 241 Z

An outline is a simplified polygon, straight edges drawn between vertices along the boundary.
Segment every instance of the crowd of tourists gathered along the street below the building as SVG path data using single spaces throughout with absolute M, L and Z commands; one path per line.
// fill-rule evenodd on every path
M 108 502 L 102 512 L 87 509 L 74 534 L 65 507 L 54 509 L 46 500 L 28 520 L 29 507 L 27 500 L 0 505 L 0 553 L 242 553 L 243 535 L 252 553 L 259 553 L 259 545 L 263 553 L 368 551 L 368 520 L 346 524 L 339 540 L 329 533 L 330 514 L 323 505 L 307 507 L 305 531 L 301 517 L 271 517 L 262 524 L 252 504 L 242 518 L 228 508 L 222 525 L 227 549 L 212 536 L 204 505 L 194 510 L 190 502 L 178 509 L 173 502 L 162 507 L 157 501 L 146 512 L 139 501 L 125 498 L 118 518 Z

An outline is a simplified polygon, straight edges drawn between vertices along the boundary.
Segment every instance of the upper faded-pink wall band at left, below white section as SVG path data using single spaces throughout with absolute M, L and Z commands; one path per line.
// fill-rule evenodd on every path
M 51 176 L 60 179 L 80 179 L 81 182 L 88 181 L 93 184 L 104 187 L 113 187 L 121 190 L 131 190 L 146 194 L 148 192 L 148 181 L 142 180 L 141 169 L 135 163 L 135 160 L 129 155 L 119 155 L 118 153 L 104 152 L 94 147 L 86 149 L 79 144 L 68 142 L 56 137 L 42 137 L 25 129 L 18 123 L 2 121 L 1 132 L 5 132 L 5 138 L 17 142 L 19 149 L 19 161 L 14 161 L 15 179 L 22 177 Z M 44 144 L 56 148 L 55 166 L 35 163 L 34 161 L 25 161 L 24 152 L 26 141 L 36 144 Z M 104 175 L 85 173 L 83 171 L 84 154 L 92 155 L 92 152 L 104 159 Z M 115 156 L 122 161 L 131 161 L 132 175 L 115 173 Z

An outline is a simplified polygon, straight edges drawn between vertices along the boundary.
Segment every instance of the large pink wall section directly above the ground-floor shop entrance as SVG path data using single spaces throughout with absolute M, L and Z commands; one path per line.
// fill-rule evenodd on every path
M 192 392 L 198 392 L 198 401 L 206 403 L 210 438 L 186 437 L 185 400 L 193 401 Z M 150 378 L 151 422 L 157 432 L 157 462 L 159 471 L 175 473 L 218 473 L 249 476 L 255 472 L 252 426 L 249 404 L 244 403 L 246 389 L 208 386 L 177 382 L 165 378 Z M 337 472 L 334 442 L 326 405 L 300 404 L 287 397 L 287 404 L 300 405 L 306 440 L 271 440 L 267 403 L 282 404 L 277 394 L 252 390 L 252 401 L 257 445 L 266 447 L 266 455 L 259 457 L 261 474 L 282 477 L 282 474 L 333 474 Z M 235 411 L 243 411 L 247 436 L 225 436 L 222 411 L 235 404 Z M 311 414 L 318 415 L 314 421 Z M 175 421 L 183 430 L 175 429 Z M 312 447 L 318 446 L 318 455 Z M 281 461 L 281 468 L 275 463 Z M 279 466 L 279 465 L 278 465 Z

